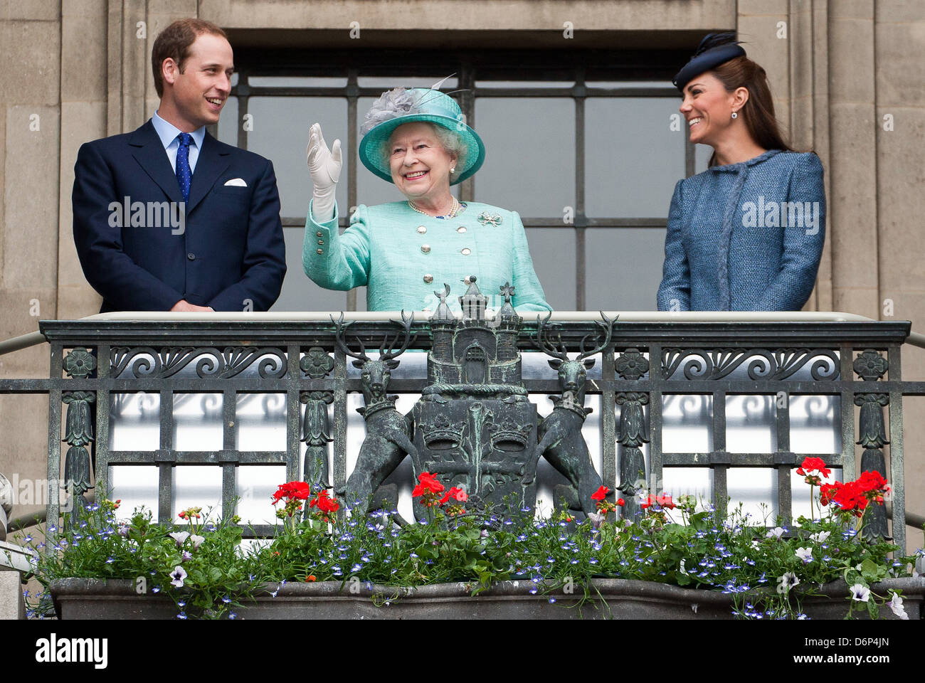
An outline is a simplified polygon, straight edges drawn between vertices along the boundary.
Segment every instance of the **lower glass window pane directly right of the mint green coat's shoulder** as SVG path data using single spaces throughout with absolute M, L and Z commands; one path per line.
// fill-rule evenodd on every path
M 526 241 L 546 302 L 557 311 L 575 308 L 575 232 L 573 228 L 527 228 Z

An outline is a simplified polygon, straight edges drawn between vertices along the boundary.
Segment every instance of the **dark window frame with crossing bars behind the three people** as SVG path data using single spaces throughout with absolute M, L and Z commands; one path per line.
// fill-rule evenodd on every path
M 465 120 L 477 130 L 476 100 L 491 98 L 562 97 L 574 103 L 574 193 L 575 206 L 572 223 L 562 218 L 522 216 L 526 230 L 544 228 L 571 228 L 575 246 L 574 310 L 586 308 L 586 230 L 600 229 L 661 229 L 668 225 L 666 217 L 587 217 L 585 213 L 585 106 L 589 98 L 666 98 L 678 97 L 671 84 L 678 64 L 683 64 L 686 53 L 677 50 L 566 50 L 550 54 L 549 50 L 482 50 L 472 51 L 396 51 L 376 47 L 350 51 L 273 50 L 247 47 L 240 50 L 236 61 L 238 82 L 232 86 L 230 97 L 237 98 L 237 146 L 247 149 L 247 131 L 240 121 L 248 113 L 251 97 L 335 97 L 347 100 L 347 148 L 351 160 L 347 164 L 347 202 L 357 205 L 357 156 L 359 116 L 358 100 L 361 97 L 378 97 L 381 87 L 361 87 L 360 74 L 366 77 L 394 79 L 396 86 L 402 78 L 433 78 L 439 81 L 454 74 L 457 85 L 452 96 L 460 103 Z M 395 67 L 389 65 L 411 65 Z M 423 66 L 422 66 L 423 65 Z M 253 77 L 344 77 L 341 86 L 272 87 L 253 86 Z M 476 81 L 572 81 L 573 85 L 555 87 L 487 88 Z M 626 85 L 604 87 L 595 82 L 614 81 L 665 81 L 664 86 Z M 444 88 L 446 90 L 446 88 Z M 210 127 L 217 137 L 217 125 Z M 682 134 L 684 131 L 682 130 Z M 695 146 L 685 136 L 685 177 L 695 172 Z M 460 183 L 460 199 L 475 200 L 475 178 Z M 284 229 L 302 229 L 304 217 L 281 217 Z M 349 225 L 349 214 L 339 218 L 340 228 Z M 356 310 L 356 290 L 347 293 L 348 310 Z

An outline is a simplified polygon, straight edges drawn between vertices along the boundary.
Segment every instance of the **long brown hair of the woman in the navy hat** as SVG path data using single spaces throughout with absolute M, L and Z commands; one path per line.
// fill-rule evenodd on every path
M 737 56 L 719 67 L 711 69 L 726 92 L 733 93 L 736 88 L 748 90 L 748 100 L 739 111 L 745 118 L 746 128 L 752 140 L 765 149 L 780 149 L 793 152 L 793 148 L 784 142 L 780 125 L 774 117 L 774 100 L 771 98 L 771 86 L 768 75 L 746 56 Z M 709 166 L 716 164 L 716 152 L 709 157 Z

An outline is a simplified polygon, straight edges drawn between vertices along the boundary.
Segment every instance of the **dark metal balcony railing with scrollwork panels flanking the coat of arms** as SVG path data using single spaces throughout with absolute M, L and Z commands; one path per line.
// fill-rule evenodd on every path
M 395 339 L 401 334 L 399 317 L 395 314 L 394 320 L 353 320 L 349 328 L 351 344 L 379 348 L 384 339 Z M 842 468 L 845 479 L 870 470 L 889 480 L 894 509 L 892 536 L 903 547 L 902 400 L 904 395 L 925 394 L 925 383 L 901 378 L 900 347 L 908 335 L 909 323 L 686 322 L 667 316 L 629 322 L 620 320 L 616 314 L 608 314 L 608 318 L 612 321 L 610 338 L 601 351 L 586 359 L 594 361 L 595 372 L 599 368 L 600 374 L 593 379 L 589 375 L 584 391 L 589 400 L 591 396 L 599 397 L 596 428 L 599 428 L 601 465 L 597 476 L 611 491 L 619 490 L 626 502 L 620 511 L 622 515 L 635 515 L 643 496 L 660 492 L 664 470 L 669 467 L 709 468 L 714 502 L 728 498 L 727 474 L 731 468 L 765 467 L 777 471 L 774 503 L 778 514 L 789 522 L 793 518 L 791 470 L 806 456 L 817 455 L 826 466 Z M 568 358 L 581 354 L 587 340 L 604 339 L 600 335 L 601 320 L 597 314 L 588 314 L 585 321 L 553 319 L 557 343 L 570 354 Z M 225 514 L 234 512 L 238 468 L 245 465 L 285 465 L 287 480 L 309 480 L 315 486 L 330 486 L 335 493 L 346 490 L 351 474 L 347 453 L 348 394 L 364 391 L 364 383 L 362 378 L 349 376 L 351 359 L 337 341 L 338 325 L 331 317 L 291 320 L 261 314 L 233 320 L 96 317 L 46 320 L 41 329 L 51 343 L 49 379 L 4 380 L 0 390 L 48 393 L 49 479 L 61 478 L 64 441 L 69 447 L 65 474 L 73 480 L 75 492 L 82 493 L 97 481 L 105 482 L 110 466 L 157 466 L 157 518 L 164 520 L 172 515 L 172 471 L 180 465 L 220 468 Z M 430 350 L 432 336 L 426 319 L 415 317 L 408 332 L 405 354 L 390 363 L 405 363 L 414 351 Z M 537 321 L 530 318 L 525 318 L 516 331 L 516 350 L 524 358 L 527 353 L 537 352 L 536 333 Z M 561 354 L 561 349 L 557 353 Z M 555 370 L 546 369 L 545 361 L 543 367 L 542 372 L 533 372 L 523 379 L 526 392 L 536 397 L 535 402 L 562 391 Z M 388 380 L 388 391 L 395 395 L 421 394 L 427 386 L 427 378 L 408 377 L 401 372 Z M 160 440 L 154 450 L 109 448 L 112 394 L 131 392 L 159 396 Z M 221 448 L 192 452 L 174 447 L 175 416 L 171 406 L 173 395 L 182 392 L 223 396 Z M 283 395 L 285 449 L 236 448 L 236 398 L 240 393 Z M 674 394 L 710 398 L 708 451 L 664 452 L 663 400 Z M 771 453 L 730 453 L 726 448 L 726 397 L 743 394 L 774 397 L 776 449 Z M 842 436 L 839 452 L 801 453 L 791 447 L 789 401 L 796 396 L 838 397 L 840 414 L 836 425 L 840 422 Z M 64 434 L 62 405 L 68 410 Z M 860 406 L 857 425 L 855 405 Z M 540 418 L 551 415 L 542 415 L 546 412 L 542 407 L 540 412 Z M 585 408 L 581 416 L 587 412 Z M 584 429 L 588 429 L 587 423 Z M 302 443 L 306 444 L 304 456 Z M 890 471 L 884 466 L 883 447 L 887 444 Z M 862 449 L 859 462 L 857 446 Z M 598 453 L 592 453 L 593 460 L 597 456 Z M 83 476 L 88 469 L 88 457 L 94 463 L 94 481 Z M 410 480 L 406 483 L 409 488 L 413 485 Z M 550 480 L 549 486 L 560 486 L 561 491 L 568 492 L 565 478 Z M 387 499 L 388 496 L 384 500 Z M 49 518 L 57 518 L 59 512 L 58 502 L 52 500 L 48 506 Z M 273 526 L 248 527 L 246 534 L 252 533 L 269 536 Z M 865 527 L 865 534 L 870 537 L 889 533 L 882 513 Z

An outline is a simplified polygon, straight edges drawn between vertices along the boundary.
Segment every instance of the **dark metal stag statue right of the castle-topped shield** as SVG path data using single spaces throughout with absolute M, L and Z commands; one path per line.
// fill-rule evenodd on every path
M 561 395 L 551 396 L 554 408 L 537 428 L 536 460 L 545 456 L 549 464 L 555 467 L 563 477 L 572 483 L 573 491 L 565 491 L 566 503 L 570 508 L 588 514 L 596 511 L 591 494 L 598 491 L 603 482 L 591 463 L 591 454 L 582 437 L 581 428 L 591 408 L 585 407 L 585 384 L 587 371 L 594 366 L 594 354 L 607 348 L 611 342 L 613 325 L 611 319 L 601 312 L 603 321 L 596 325 L 603 336 L 603 342 L 591 349 L 586 342 L 596 333 L 586 335 L 581 341 L 581 353 L 570 360 L 561 336 L 553 334 L 549 325 L 550 313 L 545 319 L 536 317 L 536 334 L 534 343 L 545 354 L 551 355 L 549 366 L 559 370 L 559 387 Z

